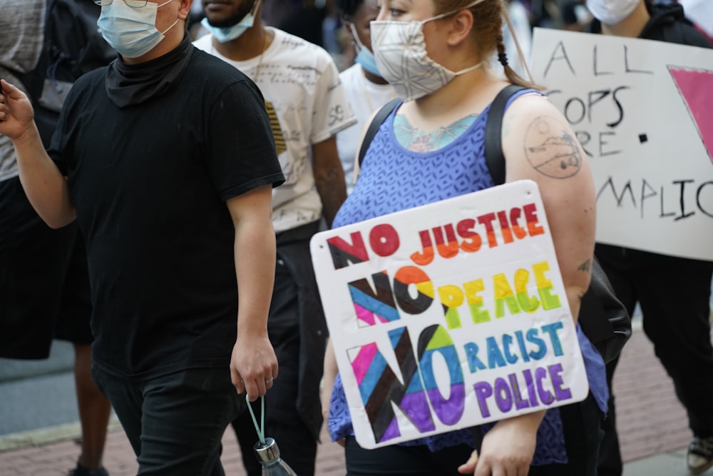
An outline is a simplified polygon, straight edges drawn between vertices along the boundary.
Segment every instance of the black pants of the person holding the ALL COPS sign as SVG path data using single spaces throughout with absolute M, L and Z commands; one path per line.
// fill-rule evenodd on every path
M 644 332 L 673 380 L 692 432 L 700 437 L 713 436 L 713 347 L 709 323 L 713 263 L 606 245 L 597 245 L 596 254 L 629 313 L 640 304 Z M 617 360 L 607 365 L 610 390 L 616 365 Z M 621 474 L 612 395 L 599 475 Z

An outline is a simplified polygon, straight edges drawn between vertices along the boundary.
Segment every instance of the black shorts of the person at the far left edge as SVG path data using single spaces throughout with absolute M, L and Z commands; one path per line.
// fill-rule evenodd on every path
M 52 339 L 92 342 L 86 251 L 76 224 L 52 230 L 19 178 L 0 182 L 0 357 L 43 359 Z

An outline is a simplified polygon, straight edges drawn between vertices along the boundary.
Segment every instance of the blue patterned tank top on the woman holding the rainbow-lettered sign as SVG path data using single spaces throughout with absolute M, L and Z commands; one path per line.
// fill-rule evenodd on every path
M 515 93 L 515 98 L 532 89 Z M 396 211 L 434 203 L 495 185 L 485 158 L 485 127 L 490 107 L 453 142 L 435 151 L 416 152 L 401 146 L 394 135 L 396 109 L 381 123 L 366 151 L 354 191 L 339 209 L 333 227 L 347 226 Z M 579 327 L 579 326 L 578 326 Z M 607 388 L 604 362 L 597 350 L 578 328 L 580 347 L 585 359 L 590 388 L 602 409 L 606 410 Z M 489 425 L 492 426 L 492 425 Z M 337 441 L 353 435 L 352 417 L 344 396 L 342 380 L 337 375 L 329 408 L 329 432 Z M 487 427 L 486 427 L 487 428 Z M 567 461 L 562 422 L 558 410 L 550 409 L 538 429 L 533 465 Z M 404 445 L 427 445 L 431 451 L 465 443 L 473 445 L 471 430 L 420 438 Z

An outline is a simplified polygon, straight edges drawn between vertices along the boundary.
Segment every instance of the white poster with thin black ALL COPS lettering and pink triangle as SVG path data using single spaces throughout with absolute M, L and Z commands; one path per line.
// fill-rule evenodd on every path
M 531 71 L 590 157 L 597 241 L 713 260 L 713 49 L 535 29 Z

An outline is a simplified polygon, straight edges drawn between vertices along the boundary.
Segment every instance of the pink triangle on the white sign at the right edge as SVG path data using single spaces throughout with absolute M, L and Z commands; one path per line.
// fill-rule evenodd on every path
M 713 71 L 669 66 L 669 72 L 713 161 Z

